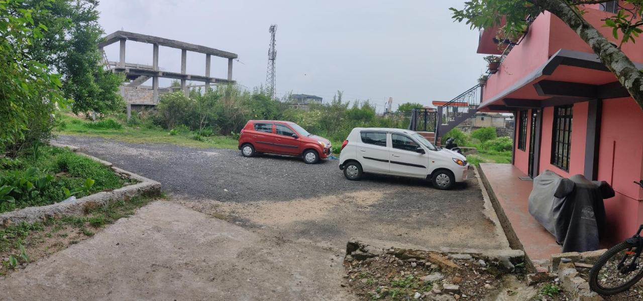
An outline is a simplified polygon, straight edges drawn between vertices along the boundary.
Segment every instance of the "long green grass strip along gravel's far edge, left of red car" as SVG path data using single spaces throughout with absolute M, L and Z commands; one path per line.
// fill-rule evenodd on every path
M 156 126 L 122 125 L 114 119 L 105 119 L 104 121 L 111 120 L 109 123 L 118 123 L 120 127 L 109 127 L 103 124 L 96 125 L 104 121 L 86 121 L 80 117 L 68 114 L 62 114 L 61 119 L 56 133 L 62 135 L 104 137 L 107 139 L 136 143 L 167 143 L 195 148 L 215 147 L 236 149 L 238 146 L 237 139 L 228 136 L 213 135 L 205 137 L 204 135 L 199 135 L 199 139 L 194 139 L 194 132 L 181 130 L 168 131 Z

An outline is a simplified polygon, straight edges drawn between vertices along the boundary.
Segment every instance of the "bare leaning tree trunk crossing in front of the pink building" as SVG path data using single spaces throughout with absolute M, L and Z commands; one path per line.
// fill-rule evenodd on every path
M 566 0 L 528 0 L 550 13 L 559 17 L 565 24 L 574 30 L 593 51 L 599 56 L 601 62 L 625 87 L 629 95 L 643 110 L 643 73 L 638 71 L 634 63 L 619 48 L 610 43 L 592 24 L 585 21 Z

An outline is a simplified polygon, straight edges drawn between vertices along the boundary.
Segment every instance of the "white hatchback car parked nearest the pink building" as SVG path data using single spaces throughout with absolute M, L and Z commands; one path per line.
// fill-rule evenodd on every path
M 341 145 L 340 169 L 349 180 L 363 173 L 427 178 L 437 189 L 467 180 L 467 159 L 399 128 L 354 128 Z

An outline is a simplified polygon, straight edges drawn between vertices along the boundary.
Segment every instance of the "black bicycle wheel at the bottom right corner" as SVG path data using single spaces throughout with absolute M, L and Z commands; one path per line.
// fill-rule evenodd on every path
M 614 295 L 636 284 L 643 277 L 643 262 L 636 257 L 636 251 L 635 245 L 627 241 L 607 250 L 590 270 L 592 291 Z

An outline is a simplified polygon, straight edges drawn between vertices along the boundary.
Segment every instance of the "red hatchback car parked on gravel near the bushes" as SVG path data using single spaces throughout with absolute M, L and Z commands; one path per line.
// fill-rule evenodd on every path
M 331 141 L 289 121 L 251 120 L 239 134 L 239 150 L 244 157 L 276 153 L 301 156 L 303 162 L 315 164 L 331 155 Z

